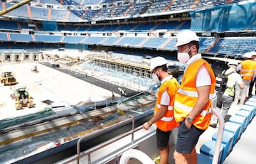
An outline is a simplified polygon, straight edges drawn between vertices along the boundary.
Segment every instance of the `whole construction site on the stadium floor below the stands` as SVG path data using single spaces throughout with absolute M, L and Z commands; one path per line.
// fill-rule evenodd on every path
M 33 62 L 1 64 L 1 72 L 15 79 L 1 83 L 1 163 L 26 160 L 97 129 L 152 114 L 151 92 L 158 86 L 150 78 L 149 60 L 111 52 L 41 55 Z

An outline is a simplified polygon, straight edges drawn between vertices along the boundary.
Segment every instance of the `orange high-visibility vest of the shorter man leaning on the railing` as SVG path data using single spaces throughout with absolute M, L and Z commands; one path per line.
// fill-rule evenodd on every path
M 164 91 L 168 92 L 171 99 L 166 114 L 159 121 L 156 121 L 156 126 L 161 131 L 171 131 L 178 126 L 178 123 L 174 119 L 174 96 L 179 87 L 180 84 L 178 84 L 174 77 L 171 80 L 164 81 L 163 84 L 161 84 L 159 87 L 154 114 L 156 114 L 161 108 L 161 96 Z

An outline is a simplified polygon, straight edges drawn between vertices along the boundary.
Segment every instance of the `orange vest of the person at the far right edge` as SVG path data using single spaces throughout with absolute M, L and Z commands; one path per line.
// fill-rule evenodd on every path
M 242 73 L 242 80 L 252 80 L 256 69 L 255 61 L 244 60 L 241 62 L 241 66 L 240 73 Z

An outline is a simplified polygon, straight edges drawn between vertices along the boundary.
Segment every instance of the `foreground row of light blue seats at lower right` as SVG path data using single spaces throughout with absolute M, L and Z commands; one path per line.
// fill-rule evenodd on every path
M 228 154 L 233 150 L 240 136 L 256 115 L 256 97 L 251 97 L 241 108 L 231 116 L 225 123 L 223 131 L 222 146 L 218 163 L 223 163 Z M 211 140 L 206 141 L 200 148 L 198 161 L 200 163 L 211 163 L 215 152 L 215 144 L 218 131 L 213 133 Z M 242 158 L 242 157 L 241 157 Z

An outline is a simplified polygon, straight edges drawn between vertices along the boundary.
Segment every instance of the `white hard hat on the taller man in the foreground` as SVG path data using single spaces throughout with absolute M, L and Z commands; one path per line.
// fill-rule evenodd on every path
M 196 35 L 196 33 L 190 30 L 181 31 L 181 33 L 177 34 L 175 47 L 178 47 L 180 45 L 186 45 L 191 41 L 199 41 L 199 38 Z

